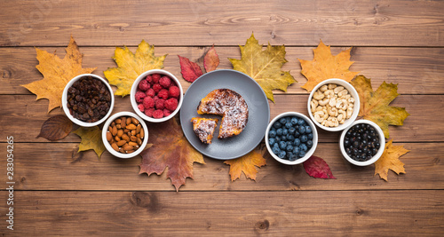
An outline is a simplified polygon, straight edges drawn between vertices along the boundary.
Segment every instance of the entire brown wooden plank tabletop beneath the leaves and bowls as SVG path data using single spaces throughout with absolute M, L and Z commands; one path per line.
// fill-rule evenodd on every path
M 7 1 L 0 15 L 0 233 L 130 236 L 294 236 L 444 234 L 444 2 L 442 1 Z M 286 111 L 307 115 L 308 93 L 297 59 L 313 59 L 320 39 L 333 54 L 351 46 L 352 71 L 398 83 L 392 106 L 410 114 L 390 127 L 395 145 L 411 150 L 400 158 L 407 174 L 374 166 L 354 167 L 339 153 L 338 132 L 320 131 L 314 153 L 337 179 L 311 178 L 302 165 L 285 166 L 266 154 L 256 181 L 232 182 L 229 166 L 204 157 L 194 179 L 177 193 L 165 175 L 139 175 L 140 157 L 122 160 L 107 152 L 76 154 L 80 138 L 36 138 L 48 100 L 36 101 L 21 84 L 43 78 L 35 47 L 65 54 L 69 36 L 83 52 L 83 67 L 103 76 L 115 67 L 115 46 L 131 51 L 142 39 L 168 53 L 165 69 L 180 75 L 177 55 L 200 59 L 214 43 L 218 68 L 240 59 L 238 45 L 251 32 L 259 43 L 285 44 L 283 69 L 298 83 L 274 91 L 271 118 Z M 116 98 L 114 112 L 131 111 Z M 14 138 L 14 230 L 5 222 L 6 137 Z

